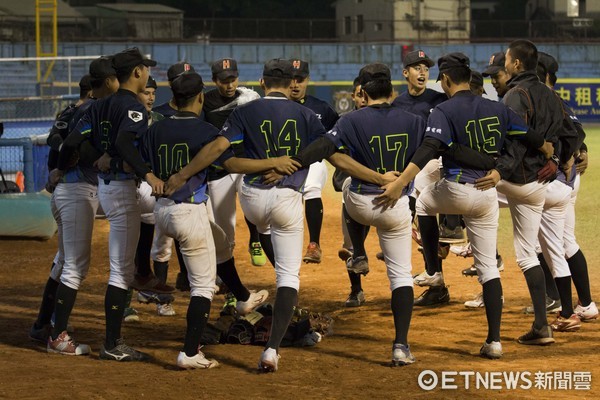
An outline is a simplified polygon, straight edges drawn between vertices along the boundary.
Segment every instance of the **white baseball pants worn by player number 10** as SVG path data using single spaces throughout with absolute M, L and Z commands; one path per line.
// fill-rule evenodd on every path
M 175 203 L 158 199 L 154 209 L 156 226 L 179 241 L 190 281 L 190 296 L 212 300 L 217 278 L 215 244 L 206 203 Z

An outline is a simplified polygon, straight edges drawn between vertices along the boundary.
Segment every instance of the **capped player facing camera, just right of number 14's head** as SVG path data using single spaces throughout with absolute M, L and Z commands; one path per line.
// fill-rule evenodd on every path
M 333 128 L 340 117 L 335 110 L 323 100 L 306 94 L 310 73 L 308 63 L 300 59 L 292 59 L 294 67 L 294 79 L 292 80 L 291 99 L 311 109 L 325 127 L 325 130 Z M 310 243 L 306 248 L 303 260 L 306 263 L 321 262 L 322 251 L 320 246 L 321 225 L 323 225 L 323 200 L 321 192 L 327 181 L 327 166 L 320 161 L 311 165 L 304 186 L 304 209 L 306 212 L 306 225 Z

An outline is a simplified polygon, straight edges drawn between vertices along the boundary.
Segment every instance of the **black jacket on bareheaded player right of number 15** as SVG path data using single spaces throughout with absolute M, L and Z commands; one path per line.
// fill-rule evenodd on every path
M 519 114 L 527 125 L 543 134 L 546 141 L 554 144 L 554 153 L 561 163 L 567 162 L 578 150 L 579 135 L 573 121 L 564 109 L 560 97 L 542 82 L 534 71 L 524 71 L 513 77 L 502 102 Z M 523 143 L 512 143 L 511 156 L 520 158 L 517 168 L 505 177 L 513 183 L 529 183 L 537 180 L 537 171 L 546 160 L 537 150 L 527 149 Z

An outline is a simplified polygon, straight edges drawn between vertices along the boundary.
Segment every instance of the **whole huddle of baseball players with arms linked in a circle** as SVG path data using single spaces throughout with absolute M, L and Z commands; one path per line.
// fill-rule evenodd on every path
M 575 331 L 597 318 L 574 235 L 579 177 L 587 167 L 585 133 L 552 90 L 558 63 L 533 43 L 512 42 L 483 71 L 501 101 L 481 97 L 483 77 L 462 53 L 437 61 L 444 93 L 427 89 L 436 63 L 417 50 L 403 59 L 406 92 L 395 96 L 388 66 L 368 64 L 354 80 L 355 109 L 341 117 L 306 94 L 303 60 L 267 61 L 262 98 L 238 86 L 235 59 L 212 64 L 216 89 L 206 94 L 193 66 L 179 62 L 167 72 L 171 100 L 153 107 L 157 85 L 149 67 L 155 65 L 137 48 L 92 61 L 80 82 L 81 100 L 58 116 L 48 137 L 47 189 L 59 249 L 29 333 L 48 352 L 91 351 L 74 340 L 68 321 L 101 209 L 110 223 L 110 275 L 99 358 L 147 360 L 121 335 L 123 321 L 138 318 L 130 307 L 132 289 L 162 316 L 175 315 L 172 293 L 179 289 L 190 291 L 190 302 L 177 365 L 218 366 L 200 342 L 219 284 L 237 300 L 240 316 L 269 298 L 267 290 L 248 289 L 236 270 L 237 196 L 252 264 L 269 260 L 275 268 L 271 330 L 258 369 L 276 371 L 298 302 L 301 264 L 321 262 L 325 159 L 336 167 L 334 188 L 343 193 L 338 255 L 351 285 L 347 307 L 365 302 L 364 242 L 369 228 L 377 229 L 377 257 L 390 281 L 393 365 L 415 362 L 408 343 L 413 307 L 449 301 L 442 260 L 447 239 L 464 237 L 464 230 L 465 254 L 474 264 L 463 274 L 478 276 L 482 294 L 475 307 L 485 308 L 488 324 L 480 354 L 502 357 L 500 207 L 510 209 L 516 261 L 534 315 L 518 342 L 548 345 L 553 332 Z M 303 254 L 305 215 L 310 241 Z M 425 265 L 414 276 L 413 239 Z M 175 287 L 167 284 L 173 247 L 180 266 Z M 414 299 L 414 284 L 429 289 Z M 547 312 L 558 312 L 550 324 Z

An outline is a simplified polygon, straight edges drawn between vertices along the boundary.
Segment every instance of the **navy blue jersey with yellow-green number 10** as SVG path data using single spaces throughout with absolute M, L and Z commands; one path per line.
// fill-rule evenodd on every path
M 219 130 L 195 114 L 181 112 L 155 122 L 142 139 L 142 155 L 152 165 L 156 176 L 164 181 L 194 158 L 202 147 L 219 136 Z M 170 196 L 184 203 L 204 203 L 206 195 L 204 169 L 192 176 L 185 185 Z

